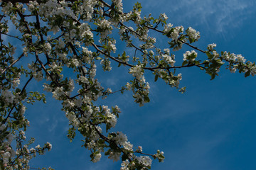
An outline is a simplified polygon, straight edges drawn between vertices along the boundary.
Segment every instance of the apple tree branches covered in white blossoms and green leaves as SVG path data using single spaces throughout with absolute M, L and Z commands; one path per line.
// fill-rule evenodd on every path
M 70 122 L 70 141 L 79 132 L 92 162 L 105 154 L 114 161 L 121 159 L 121 169 L 126 170 L 151 169 L 152 159 L 164 162 L 164 152 L 144 153 L 124 132 L 114 132 L 121 110 L 102 101 L 132 91 L 135 103 L 148 103 L 145 74 L 181 93 L 186 91 L 179 86 L 182 68 L 197 67 L 210 79 L 218 76 L 220 67 L 254 76 L 255 63 L 242 55 L 217 52 L 215 43 L 201 50 L 193 45 L 201 37 L 197 30 L 173 26 L 165 13 L 154 18 L 141 12 L 139 3 L 124 11 L 122 0 L 1 1 L 1 169 L 30 169 L 30 159 L 52 148 L 49 142 L 30 147 L 35 139 L 26 139 L 26 107 L 36 101 L 46 103 L 45 94 L 28 91 L 33 80 L 61 101 Z M 154 33 L 168 39 L 168 48 L 158 47 Z M 120 52 L 121 45 L 127 50 Z M 191 50 L 176 59 L 175 52 L 185 45 Z M 112 90 L 97 79 L 99 67 L 105 72 L 126 67 L 132 78 Z

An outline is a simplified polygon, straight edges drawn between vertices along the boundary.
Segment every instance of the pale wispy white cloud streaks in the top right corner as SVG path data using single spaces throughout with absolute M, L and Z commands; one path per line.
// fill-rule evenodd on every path
M 241 24 L 255 16 L 255 1 L 239 0 L 172 0 L 142 1 L 142 6 L 149 13 L 166 13 L 174 25 L 207 26 L 215 33 L 228 32 L 239 28 Z

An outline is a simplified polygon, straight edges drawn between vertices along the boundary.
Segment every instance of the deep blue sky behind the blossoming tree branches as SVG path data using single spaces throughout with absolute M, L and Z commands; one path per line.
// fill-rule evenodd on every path
M 124 10 L 136 1 L 125 0 Z M 247 60 L 256 61 L 256 2 L 250 0 L 141 0 L 144 14 L 166 13 L 174 26 L 191 26 L 201 33 L 196 46 L 203 50 L 210 43 L 217 44 L 219 52 L 230 51 L 242 54 Z M 166 42 L 156 34 L 160 47 Z M 118 47 L 124 50 L 125 47 Z M 188 50 L 188 48 L 185 48 Z M 174 53 L 182 59 L 183 52 Z M 201 57 L 204 57 L 201 55 Z M 127 68 L 113 68 L 113 73 L 97 74 L 102 85 L 112 89 L 126 84 Z M 122 73 L 122 77 L 118 73 Z M 127 134 L 134 147 L 142 145 L 144 152 L 154 154 L 164 151 L 164 163 L 153 162 L 152 169 L 173 170 L 225 170 L 255 169 L 256 99 L 255 77 L 231 74 L 225 68 L 220 76 L 210 77 L 197 68 L 181 69 L 181 86 L 185 94 L 166 86 L 146 74 L 151 86 L 151 102 L 139 107 L 132 94 L 110 96 L 102 101 L 110 106 L 118 105 L 122 113 L 114 130 Z M 117 79 L 118 77 L 118 79 Z M 41 84 L 32 84 L 31 89 L 41 89 Z M 29 136 L 36 143 L 51 142 L 53 149 L 44 156 L 31 161 L 31 167 L 52 166 L 69 170 L 119 169 L 120 162 L 102 158 L 96 164 L 90 162 L 87 149 L 80 147 L 82 137 L 73 143 L 66 137 L 68 120 L 60 111 L 60 103 L 47 94 L 48 103 L 36 103 L 26 111 L 31 120 Z

